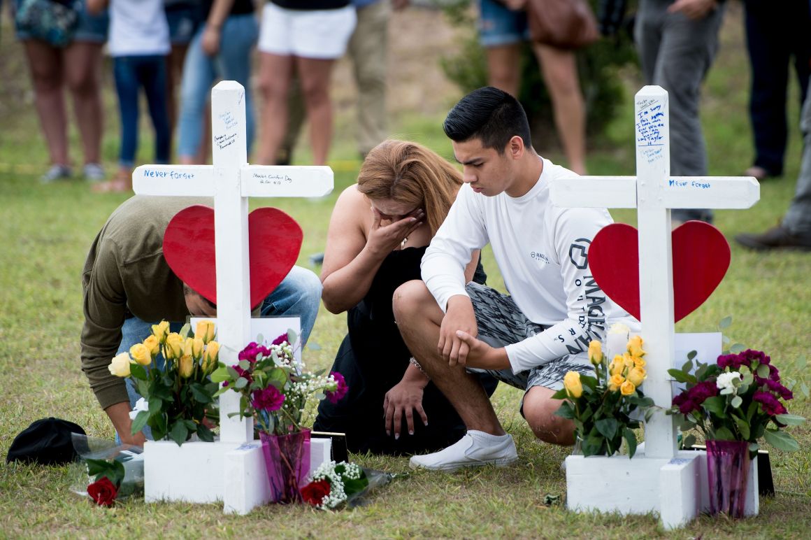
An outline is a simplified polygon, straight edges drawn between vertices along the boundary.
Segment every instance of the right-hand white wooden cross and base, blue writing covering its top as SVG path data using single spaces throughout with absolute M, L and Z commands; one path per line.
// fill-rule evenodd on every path
M 560 178 L 550 191 L 553 204 L 561 207 L 637 208 L 639 300 L 648 374 L 642 389 L 667 409 L 672 403 L 667 369 L 674 356 L 671 208 L 749 208 L 760 198 L 760 187 L 751 177 L 672 178 L 667 92 L 646 86 L 635 99 L 637 176 Z M 566 458 L 569 508 L 659 512 L 667 529 L 686 524 L 705 509 L 702 452 L 676 451 L 676 426 L 663 410 L 646 422 L 645 435 L 645 444 L 632 460 Z M 749 478 L 749 486 L 757 487 L 757 475 Z M 757 499 L 757 490 L 754 493 Z M 757 501 L 749 509 L 757 513 Z

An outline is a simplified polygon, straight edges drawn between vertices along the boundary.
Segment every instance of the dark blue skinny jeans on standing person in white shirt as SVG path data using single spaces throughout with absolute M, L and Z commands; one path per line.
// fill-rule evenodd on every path
M 135 165 L 138 149 L 139 89 L 144 88 L 149 117 L 155 128 L 155 161 L 169 163 L 172 134 L 169 130 L 169 112 L 166 101 L 166 57 L 118 56 L 113 58 L 115 90 L 121 113 L 121 152 L 118 163 L 122 167 Z

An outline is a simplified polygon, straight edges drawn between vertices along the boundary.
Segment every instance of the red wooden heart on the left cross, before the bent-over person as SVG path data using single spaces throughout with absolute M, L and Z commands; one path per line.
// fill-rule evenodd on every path
M 298 259 L 302 237 L 298 223 L 277 208 L 257 208 L 248 215 L 251 306 L 285 279 Z M 181 281 L 217 303 L 212 208 L 195 205 L 175 214 L 163 236 L 163 256 Z

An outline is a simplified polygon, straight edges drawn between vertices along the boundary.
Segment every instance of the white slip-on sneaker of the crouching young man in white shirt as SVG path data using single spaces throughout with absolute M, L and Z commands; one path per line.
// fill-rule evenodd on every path
M 503 467 L 517 459 L 512 435 L 490 435 L 484 431 L 470 430 L 444 450 L 424 456 L 411 456 L 409 465 L 412 469 L 453 471 L 460 467 L 480 465 Z

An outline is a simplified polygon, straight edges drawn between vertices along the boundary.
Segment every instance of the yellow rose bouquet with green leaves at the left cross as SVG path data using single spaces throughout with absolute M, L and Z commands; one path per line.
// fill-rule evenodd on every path
M 132 421 L 132 433 L 149 426 L 155 440 L 171 439 L 182 444 L 197 435 L 212 442 L 214 435 L 206 418 L 216 422 L 214 394 L 219 384 L 210 379 L 217 368 L 220 345 L 214 341 L 214 324 L 200 321 L 193 336 L 191 325 L 169 332 L 169 323 L 152 325 L 152 334 L 143 343 L 118 354 L 109 371 L 129 377 L 144 397 Z

